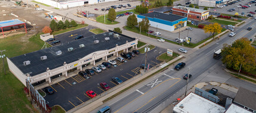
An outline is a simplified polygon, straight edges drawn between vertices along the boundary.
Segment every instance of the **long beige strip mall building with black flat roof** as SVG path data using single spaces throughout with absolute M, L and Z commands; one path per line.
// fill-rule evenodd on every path
M 30 83 L 36 86 L 71 77 L 74 71 L 84 70 L 89 65 L 96 66 L 101 60 L 115 59 L 120 53 L 137 49 L 137 44 L 136 38 L 109 31 L 21 56 L 7 57 L 7 62 L 10 71 L 21 83 L 26 86 L 25 80 L 30 79 Z

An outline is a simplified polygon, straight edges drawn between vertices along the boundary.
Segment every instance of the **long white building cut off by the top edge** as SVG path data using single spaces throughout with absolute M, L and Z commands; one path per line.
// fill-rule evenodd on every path
M 36 2 L 41 2 L 46 5 L 51 5 L 55 8 L 71 8 L 79 7 L 83 5 L 98 4 L 102 2 L 110 2 L 117 0 L 35 0 Z

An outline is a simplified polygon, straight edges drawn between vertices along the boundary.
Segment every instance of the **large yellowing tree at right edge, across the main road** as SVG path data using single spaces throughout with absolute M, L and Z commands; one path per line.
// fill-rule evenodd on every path
M 256 69 L 256 52 L 248 38 L 239 38 L 232 45 L 223 44 L 222 62 L 227 67 L 245 72 Z

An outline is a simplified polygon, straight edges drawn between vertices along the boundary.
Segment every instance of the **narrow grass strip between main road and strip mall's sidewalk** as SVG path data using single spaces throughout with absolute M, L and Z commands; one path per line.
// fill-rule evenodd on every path
M 183 58 L 180 58 L 180 59 L 178 59 L 178 60 L 175 60 L 174 62 L 168 64 L 167 66 L 161 68 L 160 70 L 157 70 L 156 72 L 152 73 L 151 75 L 146 76 L 146 78 L 143 78 L 143 79 L 139 80 L 138 82 L 133 83 L 133 85 L 130 85 L 130 86 L 128 86 L 127 88 L 123 89 L 122 91 L 115 93 L 114 95 L 110 96 L 109 98 L 105 99 L 105 100 L 102 101 L 102 102 L 105 103 L 105 102 L 109 101 L 110 99 L 115 98 L 115 96 L 120 95 L 121 93 L 127 91 L 128 89 L 133 88 L 133 86 L 136 86 L 136 85 L 138 85 L 139 83 L 143 82 L 144 80 L 146 80 L 146 79 L 148 79 L 148 78 L 151 78 L 151 76 L 154 76 L 154 75 L 156 75 L 157 73 L 163 71 L 164 69 L 167 69 L 169 66 L 171 66 L 172 64 L 178 62 L 178 61 L 181 60 L 181 59 L 183 59 Z

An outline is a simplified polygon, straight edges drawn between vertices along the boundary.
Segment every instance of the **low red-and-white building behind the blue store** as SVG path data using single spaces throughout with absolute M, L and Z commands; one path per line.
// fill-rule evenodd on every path
M 173 14 L 182 15 L 193 20 L 206 20 L 209 17 L 209 11 L 183 6 L 173 7 Z

